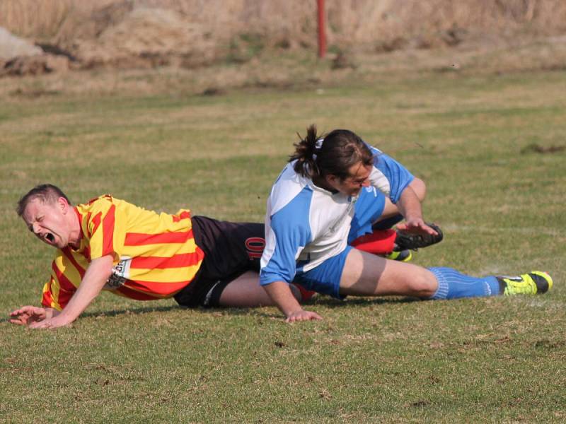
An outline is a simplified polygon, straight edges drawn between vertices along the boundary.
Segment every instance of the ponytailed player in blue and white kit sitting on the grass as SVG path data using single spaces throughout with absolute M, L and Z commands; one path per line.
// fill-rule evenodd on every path
M 335 298 L 454 299 L 545 293 L 552 287 L 548 273 L 541 271 L 474 278 L 450 268 L 424 269 L 354 249 L 348 242 L 371 230 L 386 211 L 381 190 L 392 204 L 396 201 L 405 230 L 435 232 L 422 220 L 420 201 L 410 189 L 411 176 L 388 170 L 395 164 L 386 158 L 380 164 L 377 152 L 352 131 L 337 129 L 318 136 L 311 126 L 295 147 L 267 200 L 260 272 L 260 284 L 287 322 L 320 319 L 299 305 L 289 289 L 291 281 Z

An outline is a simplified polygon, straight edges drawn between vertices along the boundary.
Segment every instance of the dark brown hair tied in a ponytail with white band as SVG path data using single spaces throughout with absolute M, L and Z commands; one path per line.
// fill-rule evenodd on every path
M 296 160 L 294 170 L 303 177 L 325 177 L 336 175 L 344 180 L 350 177 L 350 167 L 362 162 L 374 163 L 374 155 L 369 147 L 354 132 L 347 129 L 335 129 L 328 134 L 317 135 L 316 125 L 306 129 L 306 137 L 299 136 L 299 143 L 294 144 L 295 153 L 289 156 L 289 162 Z

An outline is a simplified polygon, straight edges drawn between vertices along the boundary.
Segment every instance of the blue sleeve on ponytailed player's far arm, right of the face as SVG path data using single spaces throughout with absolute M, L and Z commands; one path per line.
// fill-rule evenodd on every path
M 374 153 L 374 169 L 369 176 L 371 185 L 383 192 L 396 204 L 407 187 L 415 177 L 391 156 L 386 155 L 379 149 L 371 147 Z

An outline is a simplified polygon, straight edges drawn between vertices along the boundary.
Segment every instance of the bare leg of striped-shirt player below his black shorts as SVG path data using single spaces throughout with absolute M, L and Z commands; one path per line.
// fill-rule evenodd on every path
M 226 307 L 275 306 L 264 288 L 260 285 L 257 272 L 247 271 L 236 280 L 226 285 L 220 295 L 219 304 Z M 293 284 L 289 284 L 296 300 L 301 302 L 301 293 Z

